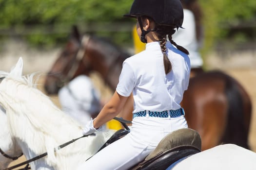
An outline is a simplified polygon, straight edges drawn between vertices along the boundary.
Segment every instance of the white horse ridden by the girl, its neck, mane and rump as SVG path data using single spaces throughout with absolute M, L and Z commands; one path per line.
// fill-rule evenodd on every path
M 6 132 L 4 136 L 9 138 L 12 136 L 27 159 L 44 152 L 48 153 L 47 157 L 30 164 L 32 170 L 77 169 L 77 166 L 96 153 L 114 132 L 98 132 L 96 136 L 81 138 L 54 152 L 54 148 L 60 144 L 81 136 L 81 125 L 64 114 L 47 96 L 34 88 L 33 75 L 21 76 L 22 65 L 20 59 L 10 73 L 0 72 L 0 78 L 5 77 L 0 81 L 0 104 L 6 109 L 10 128 L 10 135 L 8 136 L 7 130 L 4 130 Z M 4 123 L 0 125 L 6 127 Z M 182 136 L 178 135 L 176 141 L 181 140 Z M 7 146 L 0 147 L 8 151 L 8 147 L 14 148 L 13 145 L 7 144 Z M 16 155 L 14 151 L 16 154 L 20 152 L 19 149 L 13 149 L 8 153 Z M 255 160 L 256 153 L 237 145 L 225 144 L 191 155 L 167 170 L 255 170 Z M 0 163 L 4 164 L 0 165 L 4 168 L 9 162 Z

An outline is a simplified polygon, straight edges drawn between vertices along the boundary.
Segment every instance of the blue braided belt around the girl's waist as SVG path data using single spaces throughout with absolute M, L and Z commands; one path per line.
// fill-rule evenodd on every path
M 177 110 L 169 110 L 170 112 L 170 118 L 176 118 L 184 114 L 183 108 L 177 109 Z M 147 111 L 140 111 L 133 114 L 133 118 L 136 117 L 146 117 Z M 149 117 L 156 117 L 156 118 L 168 118 L 168 110 L 162 111 L 162 112 L 153 112 L 148 111 Z

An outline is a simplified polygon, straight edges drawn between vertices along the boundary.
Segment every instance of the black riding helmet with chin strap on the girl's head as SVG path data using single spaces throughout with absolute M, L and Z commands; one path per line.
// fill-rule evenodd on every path
M 138 18 L 141 29 L 140 40 L 145 43 L 145 35 L 150 31 L 143 30 L 141 16 L 151 17 L 157 25 L 182 28 L 183 8 L 180 0 L 134 0 L 130 13 L 124 15 L 124 17 Z

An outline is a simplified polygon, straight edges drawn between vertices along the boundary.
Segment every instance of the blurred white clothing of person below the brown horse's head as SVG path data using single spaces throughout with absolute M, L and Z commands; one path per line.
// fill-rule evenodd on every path
M 100 95 L 91 79 L 80 75 L 59 90 L 62 110 L 80 123 L 91 120 L 101 109 Z

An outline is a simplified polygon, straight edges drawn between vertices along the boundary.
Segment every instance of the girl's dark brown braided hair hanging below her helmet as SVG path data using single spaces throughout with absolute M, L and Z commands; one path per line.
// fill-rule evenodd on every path
M 157 26 L 156 27 L 156 32 L 158 34 L 158 38 L 159 38 L 159 41 L 160 41 L 160 47 L 161 47 L 161 51 L 163 53 L 163 65 L 164 65 L 164 71 L 165 71 L 165 74 L 168 74 L 171 70 L 172 70 L 172 64 L 167 56 L 167 53 L 166 53 L 166 42 L 167 42 L 167 35 L 168 35 L 168 38 L 170 40 L 170 42 L 177 47 L 178 50 L 186 53 L 186 54 L 189 54 L 189 52 L 177 45 L 173 40 L 172 40 L 172 34 L 175 33 L 175 28 L 173 27 L 170 27 L 170 26 Z

